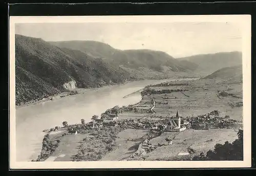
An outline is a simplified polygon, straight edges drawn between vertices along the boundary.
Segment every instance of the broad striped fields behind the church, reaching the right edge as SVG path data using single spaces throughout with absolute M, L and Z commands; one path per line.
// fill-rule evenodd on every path
M 184 85 L 175 85 L 183 84 Z M 228 82 L 216 79 L 201 79 L 190 81 L 173 81 L 168 86 L 149 86 L 150 89 L 177 90 L 183 92 L 172 92 L 164 94 L 152 94 L 144 96 L 142 101 L 134 107 L 138 109 L 150 109 L 152 107 L 151 99 L 155 98 L 156 106 L 155 116 L 170 117 L 175 116 L 176 112 L 182 117 L 196 117 L 205 115 L 212 111 L 219 111 L 220 116 L 229 116 L 230 119 L 242 120 L 243 107 L 236 107 L 236 103 L 243 102 L 242 83 Z M 187 84 L 187 85 L 186 85 Z M 221 96 L 220 92 L 226 92 L 230 95 Z M 120 119 L 144 118 L 151 114 L 141 114 L 134 112 L 125 112 L 119 115 Z

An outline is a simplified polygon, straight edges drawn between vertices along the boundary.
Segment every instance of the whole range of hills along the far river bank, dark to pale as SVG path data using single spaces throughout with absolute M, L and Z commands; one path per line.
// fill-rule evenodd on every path
M 190 74 L 196 64 L 164 52 L 116 50 L 96 41 L 47 42 L 15 35 L 16 104 L 76 87 L 89 88 L 128 80 L 163 79 Z

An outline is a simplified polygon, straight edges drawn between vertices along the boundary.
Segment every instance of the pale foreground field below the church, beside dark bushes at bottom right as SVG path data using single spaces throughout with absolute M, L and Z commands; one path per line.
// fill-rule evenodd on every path
M 194 130 L 186 129 L 180 133 L 163 133 L 161 136 L 152 139 L 150 142 L 157 145 L 164 143 L 166 137 L 173 139 L 172 145 L 157 147 L 152 152 L 147 153 L 145 160 L 172 160 L 179 153 L 191 152 L 196 154 L 214 149 L 217 143 L 224 144 L 226 141 L 233 142 L 238 139 L 237 131 L 233 129 L 210 129 Z M 194 154 L 191 153 L 191 154 Z

